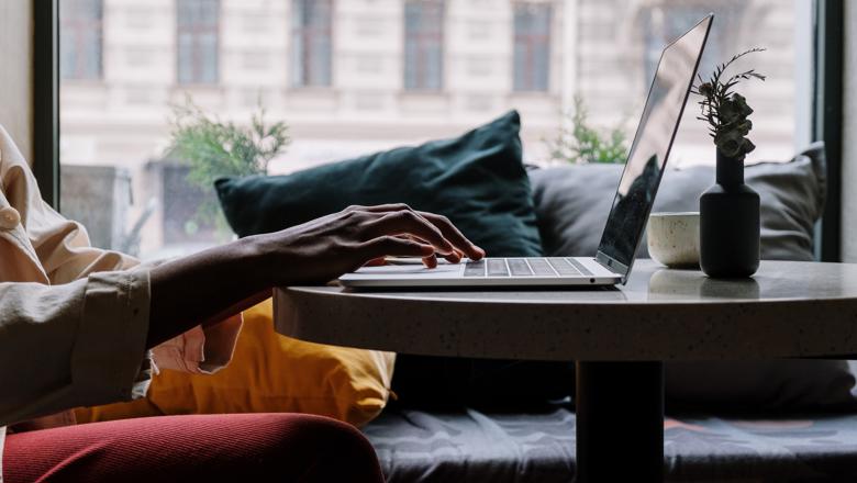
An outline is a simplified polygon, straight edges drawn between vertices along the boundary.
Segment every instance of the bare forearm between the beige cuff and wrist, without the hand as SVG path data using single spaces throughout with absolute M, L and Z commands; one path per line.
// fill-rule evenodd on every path
M 146 347 L 270 296 L 269 270 L 263 258 L 254 238 L 244 238 L 152 269 Z

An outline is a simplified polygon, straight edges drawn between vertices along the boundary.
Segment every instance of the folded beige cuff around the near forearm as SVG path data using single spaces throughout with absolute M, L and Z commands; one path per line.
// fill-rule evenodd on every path
M 152 355 L 146 350 L 149 314 L 146 269 L 88 277 L 84 314 L 71 351 L 78 405 L 129 401 L 146 394 Z

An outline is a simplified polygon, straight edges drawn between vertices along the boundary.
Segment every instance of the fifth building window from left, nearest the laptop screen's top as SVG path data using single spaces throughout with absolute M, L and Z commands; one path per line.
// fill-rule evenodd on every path
M 550 4 L 515 4 L 514 90 L 547 92 L 550 85 Z

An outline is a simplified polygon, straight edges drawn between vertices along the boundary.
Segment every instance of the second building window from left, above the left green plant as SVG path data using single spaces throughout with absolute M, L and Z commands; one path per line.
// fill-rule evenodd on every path
M 179 83 L 216 83 L 220 0 L 178 0 Z

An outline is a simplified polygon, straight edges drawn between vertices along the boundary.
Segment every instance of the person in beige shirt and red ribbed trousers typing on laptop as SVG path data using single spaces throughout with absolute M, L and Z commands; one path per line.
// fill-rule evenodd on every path
M 152 371 L 229 362 L 240 311 L 277 285 L 324 283 L 386 256 L 485 251 L 446 218 L 352 206 L 159 265 L 93 248 L 52 210 L 0 126 L 0 483 L 382 481 L 355 428 L 296 414 L 69 425 L 67 409 L 145 394 Z M 9 434 L 4 435 L 4 427 Z

